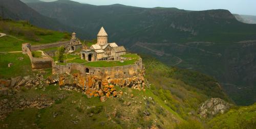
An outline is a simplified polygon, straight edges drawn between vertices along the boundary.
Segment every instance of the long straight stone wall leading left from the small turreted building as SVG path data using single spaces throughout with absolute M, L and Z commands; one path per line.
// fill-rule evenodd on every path
M 58 47 L 58 46 L 66 46 L 69 44 L 69 41 L 62 41 L 62 42 L 55 42 L 55 43 L 48 43 L 48 44 L 41 44 L 41 45 L 32 45 L 31 50 L 40 50 L 40 49 L 47 49 L 51 47 Z

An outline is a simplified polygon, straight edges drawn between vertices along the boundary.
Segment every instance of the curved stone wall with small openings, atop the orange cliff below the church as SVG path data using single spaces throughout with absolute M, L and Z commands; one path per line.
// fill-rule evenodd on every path
M 55 65 L 53 64 L 52 73 L 72 73 L 80 71 L 80 73 L 86 75 L 94 75 L 101 79 L 125 79 L 132 78 L 138 75 L 142 70 L 142 59 L 139 59 L 135 64 L 115 67 L 89 67 L 83 64 L 69 63 L 67 65 Z

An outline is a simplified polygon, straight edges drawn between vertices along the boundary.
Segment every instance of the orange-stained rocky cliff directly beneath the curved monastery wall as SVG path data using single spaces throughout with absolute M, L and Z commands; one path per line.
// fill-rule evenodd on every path
M 144 70 L 137 76 L 126 79 L 102 79 L 98 76 L 82 73 L 59 74 L 53 78 L 57 78 L 59 87 L 62 89 L 77 89 L 89 98 L 99 97 L 102 102 L 110 97 L 121 97 L 123 92 L 122 90 L 117 91 L 117 89 L 129 87 L 141 91 L 145 90 L 146 86 Z

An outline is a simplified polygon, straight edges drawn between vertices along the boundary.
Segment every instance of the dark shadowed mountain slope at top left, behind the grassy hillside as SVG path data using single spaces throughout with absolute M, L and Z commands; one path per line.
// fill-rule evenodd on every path
M 35 1 L 34 3 L 44 2 Z M 0 16 L 2 18 L 13 20 L 28 20 L 31 24 L 45 29 L 68 32 L 73 32 L 76 30 L 76 32 L 80 33 L 80 35 L 84 34 L 85 36 L 83 37 L 87 37 L 87 34 L 82 33 L 83 31 L 81 29 L 74 27 L 71 28 L 69 25 L 65 25 L 59 22 L 57 19 L 41 15 L 19 0 L 0 0 Z

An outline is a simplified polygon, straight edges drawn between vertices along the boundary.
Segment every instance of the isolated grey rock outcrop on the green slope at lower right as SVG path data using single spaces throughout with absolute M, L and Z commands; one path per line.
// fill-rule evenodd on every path
M 201 118 L 210 118 L 219 113 L 225 113 L 231 106 L 231 104 L 221 98 L 210 98 L 201 105 L 198 114 Z

